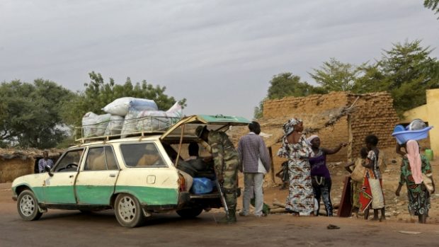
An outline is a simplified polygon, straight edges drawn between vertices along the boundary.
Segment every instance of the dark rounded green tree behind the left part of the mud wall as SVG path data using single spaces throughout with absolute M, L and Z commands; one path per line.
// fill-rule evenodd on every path
M 267 99 L 284 98 L 287 96 L 302 97 L 315 93 L 326 93 L 321 87 L 309 85 L 306 81 L 300 81 L 300 76 L 295 76 L 290 72 L 281 73 L 273 76 L 268 87 L 267 97 L 261 100 L 254 108 L 253 117 L 255 119 L 263 117 L 263 101 Z

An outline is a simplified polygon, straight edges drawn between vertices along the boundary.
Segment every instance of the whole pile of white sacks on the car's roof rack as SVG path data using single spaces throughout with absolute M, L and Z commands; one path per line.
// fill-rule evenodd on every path
M 81 137 L 77 141 L 164 132 L 183 115 L 178 103 L 163 111 L 154 100 L 132 97 L 118 98 L 102 110 L 106 114 L 89 112 L 82 117 Z

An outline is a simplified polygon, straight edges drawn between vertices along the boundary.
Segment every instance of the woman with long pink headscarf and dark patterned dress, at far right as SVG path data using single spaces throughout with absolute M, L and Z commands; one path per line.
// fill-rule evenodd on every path
M 402 159 L 401 177 L 395 194 L 399 196 L 402 185 L 405 183 L 407 197 L 409 198 L 409 213 L 417 215 L 419 223 L 426 223 L 428 209 L 430 209 L 430 193 L 423 183 L 423 174 L 431 178 L 433 183 L 432 193 L 434 193 L 430 162 L 426 156 L 419 154 L 419 145 L 414 140 L 409 140 L 406 143 L 406 151 L 407 154 Z

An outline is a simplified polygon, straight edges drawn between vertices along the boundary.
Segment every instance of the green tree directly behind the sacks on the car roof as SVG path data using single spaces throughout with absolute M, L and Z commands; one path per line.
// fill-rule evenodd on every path
M 91 81 L 84 84 L 84 92 L 79 92 L 76 97 L 69 101 L 64 107 L 64 120 L 69 125 L 81 125 L 81 119 L 85 113 L 93 112 L 103 114 L 101 108 L 111 103 L 113 100 L 121 97 L 147 98 L 154 100 L 159 110 L 167 110 L 174 103 L 175 98 L 167 96 L 166 86 L 153 86 L 143 80 L 142 83 L 132 84 L 130 77 L 125 84 L 115 84 L 110 78 L 106 83 L 100 73 L 92 71 L 89 73 Z M 179 101 L 182 107 L 186 106 L 186 98 Z

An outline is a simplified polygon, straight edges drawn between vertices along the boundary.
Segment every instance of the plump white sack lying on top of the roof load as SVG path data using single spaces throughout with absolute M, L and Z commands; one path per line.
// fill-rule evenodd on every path
M 102 108 L 102 110 L 106 113 L 110 113 L 111 115 L 125 117 L 130 108 L 136 108 L 137 110 L 159 110 L 154 100 L 132 97 L 117 98 L 112 103 L 109 103 Z

